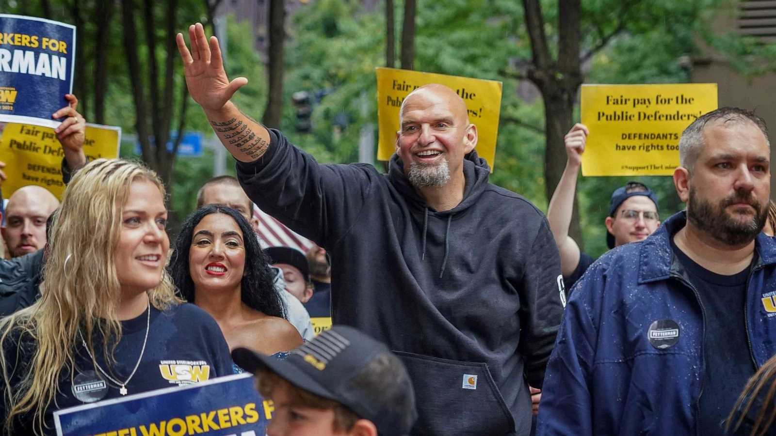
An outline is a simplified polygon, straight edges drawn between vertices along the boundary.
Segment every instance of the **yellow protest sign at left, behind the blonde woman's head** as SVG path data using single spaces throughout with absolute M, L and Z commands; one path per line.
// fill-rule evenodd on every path
M 86 124 L 84 153 L 89 160 L 119 157 L 121 127 Z M 48 189 L 62 198 L 62 158 L 64 151 L 54 129 L 28 124 L 8 123 L 0 137 L 0 161 L 5 162 L 2 185 L 5 198 L 26 185 Z

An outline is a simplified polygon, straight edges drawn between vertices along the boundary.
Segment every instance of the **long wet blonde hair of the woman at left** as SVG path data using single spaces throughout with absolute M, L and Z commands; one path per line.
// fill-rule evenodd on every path
M 113 348 L 121 337 L 116 316 L 121 284 L 113 251 L 120 238 L 123 204 L 130 184 L 136 180 L 153 182 L 164 198 L 164 185 L 154 171 L 123 160 L 92 161 L 74 175 L 65 189 L 50 230 L 41 298 L 0 320 L 0 344 L 8 347 L 13 344 L 9 341 L 16 341 L 13 346 L 17 356 L 23 340 L 34 342 L 29 371 L 21 375 L 16 386 L 11 386 L 9 380 L 16 364 L 8 362 L 10 356 L 5 355 L 5 347 L 0 347 L 7 431 L 13 417 L 32 413 L 36 432 L 43 432 L 44 414 L 57 393 L 62 369 L 69 370 L 71 379 L 74 376 L 74 351 L 81 335 L 94 356 L 92 337 L 99 334 L 106 360 L 113 360 Z M 148 290 L 148 296 L 159 310 L 179 301 L 166 269 L 159 285 Z

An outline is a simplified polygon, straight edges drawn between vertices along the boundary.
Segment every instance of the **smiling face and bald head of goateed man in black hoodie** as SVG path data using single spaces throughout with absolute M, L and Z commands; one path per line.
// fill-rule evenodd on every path
M 441 186 L 463 177 L 463 157 L 476 146 L 476 126 L 466 103 L 442 85 L 417 88 L 401 107 L 396 151 L 416 188 Z

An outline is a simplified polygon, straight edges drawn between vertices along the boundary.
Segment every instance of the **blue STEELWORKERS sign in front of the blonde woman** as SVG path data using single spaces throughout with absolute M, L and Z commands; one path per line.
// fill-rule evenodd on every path
M 57 410 L 54 424 L 57 436 L 264 436 L 273 410 L 239 374 Z

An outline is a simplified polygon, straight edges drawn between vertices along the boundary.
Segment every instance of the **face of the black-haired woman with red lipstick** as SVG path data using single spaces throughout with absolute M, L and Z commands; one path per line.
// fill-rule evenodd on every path
M 210 213 L 194 227 L 189 274 L 195 293 L 239 289 L 245 268 L 243 234 L 231 216 Z

